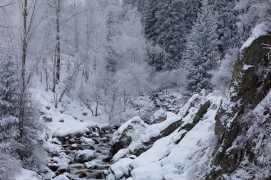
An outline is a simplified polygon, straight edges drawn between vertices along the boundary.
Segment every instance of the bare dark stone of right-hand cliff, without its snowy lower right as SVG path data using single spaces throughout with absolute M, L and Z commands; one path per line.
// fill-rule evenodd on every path
M 215 117 L 215 134 L 218 136 L 219 144 L 215 149 L 213 169 L 206 179 L 223 179 L 223 174 L 231 174 L 240 164 L 243 152 L 247 152 L 247 156 L 253 159 L 250 153 L 251 143 L 228 149 L 232 142 L 245 134 L 245 128 L 240 125 L 242 117 L 246 115 L 247 110 L 254 109 L 271 88 L 271 72 L 268 71 L 266 75 L 259 73 L 261 69 L 268 69 L 269 65 L 267 50 L 262 48 L 262 44 L 271 44 L 270 33 L 255 39 L 237 58 L 230 83 L 230 102 L 223 102 Z M 244 68 L 244 65 L 250 67 Z

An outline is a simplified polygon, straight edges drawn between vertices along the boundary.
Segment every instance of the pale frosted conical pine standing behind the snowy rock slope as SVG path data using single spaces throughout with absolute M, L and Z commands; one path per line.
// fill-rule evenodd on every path
M 217 67 L 219 57 L 213 6 L 208 4 L 208 0 L 203 0 L 201 13 L 198 14 L 198 20 L 188 37 L 186 51 L 183 55 L 183 60 L 189 70 L 187 90 L 190 95 L 203 89 L 212 90 L 210 70 Z

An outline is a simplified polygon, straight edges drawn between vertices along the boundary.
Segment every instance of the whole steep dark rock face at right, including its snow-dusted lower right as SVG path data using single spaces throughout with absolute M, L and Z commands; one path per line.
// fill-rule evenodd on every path
M 237 169 L 250 174 L 250 170 L 244 168 L 246 165 L 243 162 L 246 158 L 248 164 L 257 162 L 257 152 L 255 152 L 257 147 L 253 144 L 252 131 L 256 132 L 260 128 L 257 125 L 260 118 L 265 120 L 261 126 L 270 125 L 270 118 L 265 119 L 266 115 L 270 115 L 269 110 L 266 111 L 265 117 L 257 117 L 256 112 L 260 104 L 264 103 L 268 106 L 268 103 L 262 100 L 271 88 L 271 62 L 266 56 L 268 51 L 262 48 L 262 44 L 271 44 L 270 33 L 254 40 L 250 39 L 252 43 L 242 48 L 237 58 L 230 89 L 227 92 L 229 101 L 223 102 L 215 118 L 215 134 L 218 136 L 219 144 L 212 163 L 213 169 L 206 179 L 224 179 L 225 174 L 235 176 Z M 252 130 L 251 127 L 255 129 Z M 248 140 L 249 137 L 250 140 Z M 267 141 L 267 138 L 261 140 Z M 259 145 L 266 144 L 258 142 Z M 260 178 L 252 174 L 248 179 Z

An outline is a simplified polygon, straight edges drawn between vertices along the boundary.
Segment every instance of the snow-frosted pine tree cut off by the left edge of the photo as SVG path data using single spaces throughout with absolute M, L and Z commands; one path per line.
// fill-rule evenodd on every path
M 15 58 L 0 46 L 0 142 L 18 135 L 19 78 Z

